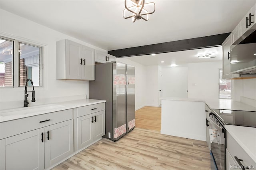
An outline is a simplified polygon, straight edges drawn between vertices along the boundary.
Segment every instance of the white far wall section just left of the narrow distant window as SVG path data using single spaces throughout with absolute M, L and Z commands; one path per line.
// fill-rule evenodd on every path
M 222 61 L 188 64 L 188 98 L 219 99 Z

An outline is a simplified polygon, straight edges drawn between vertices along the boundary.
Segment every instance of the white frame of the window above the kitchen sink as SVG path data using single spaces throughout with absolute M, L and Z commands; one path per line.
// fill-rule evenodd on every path
M 8 36 L 9 37 L 9 36 Z M 0 87 L 0 88 L 24 88 L 24 86 L 20 86 L 20 57 L 18 55 L 18 50 L 19 50 L 19 44 L 26 44 L 26 45 L 31 45 L 35 47 L 39 47 L 39 80 L 40 80 L 40 85 L 39 86 L 34 86 L 35 88 L 38 87 L 44 87 L 44 50 L 46 45 L 42 45 L 40 43 L 36 42 L 31 42 L 30 40 L 21 40 L 20 38 L 8 38 L 6 36 L 0 36 L 1 39 L 4 40 L 10 40 L 13 42 L 13 59 L 12 59 L 12 87 Z

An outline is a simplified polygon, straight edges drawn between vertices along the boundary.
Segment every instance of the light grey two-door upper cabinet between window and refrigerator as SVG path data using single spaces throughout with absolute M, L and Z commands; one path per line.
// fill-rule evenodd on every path
M 56 43 L 56 79 L 94 80 L 94 49 L 70 40 Z

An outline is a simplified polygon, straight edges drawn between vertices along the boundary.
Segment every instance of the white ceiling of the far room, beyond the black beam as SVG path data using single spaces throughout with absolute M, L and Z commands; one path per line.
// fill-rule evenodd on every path
M 215 58 L 199 58 L 198 55 L 203 53 L 214 53 L 217 56 Z M 126 58 L 146 66 L 159 65 L 162 67 L 168 67 L 172 64 L 176 64 L 177 67 L 184 67 L 188 63 L 222 61 L 222 47 L 220 46 L 202 49 L 192 49 L 186 51 L 176 51 L 171 53 L 160 53 L 156 54 L 155 56 L 140 55 Z M 164 61 L 164 63 L 161 63 L 161 61 Z

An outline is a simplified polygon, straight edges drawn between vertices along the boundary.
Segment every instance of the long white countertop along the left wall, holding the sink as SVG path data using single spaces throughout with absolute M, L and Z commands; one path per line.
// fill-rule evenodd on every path
M 5 121 L 12 121 L 12 120 L 20 119 L 24 117 L 42 115 L 45 113 L 62 111 L 66 109 L 73 109 L 76 107 L 93 105 L 93 104 L 98 104 L 103 102 L 106 102 L 106 101 L 95 100 L 95 99 L 81 99 L 81 100 L 65 101 L 65 102 L 51 103 L 51 104 L 32 106 L 32 107 L 22 107 L 22 108 L 16 108 L 16 109 L 1 110 L 0 123 Z

